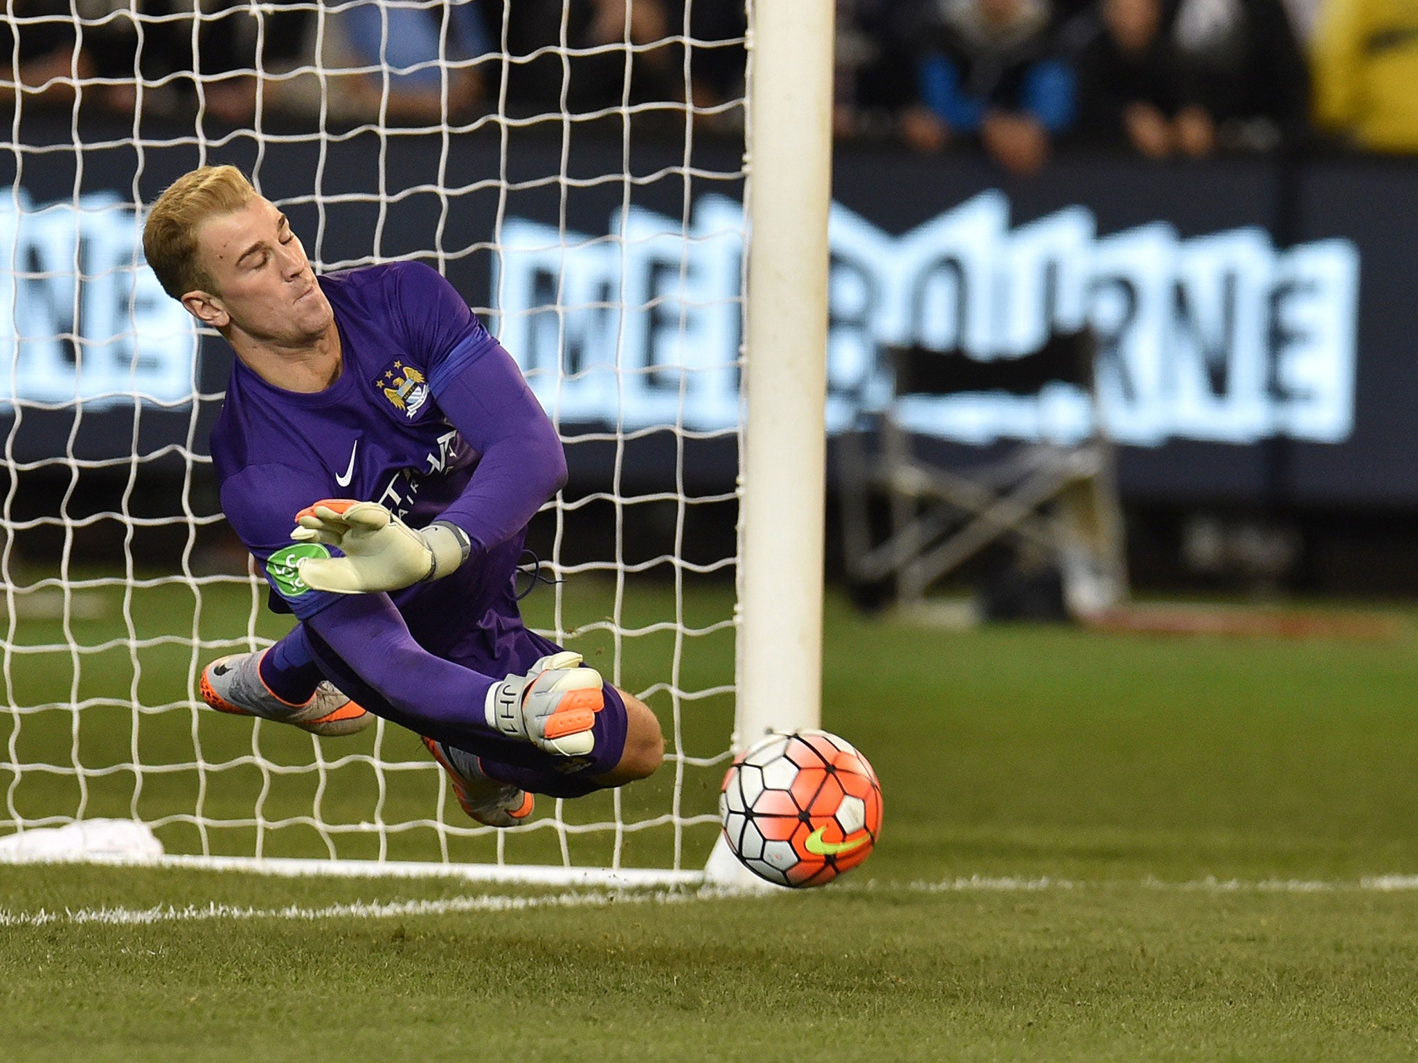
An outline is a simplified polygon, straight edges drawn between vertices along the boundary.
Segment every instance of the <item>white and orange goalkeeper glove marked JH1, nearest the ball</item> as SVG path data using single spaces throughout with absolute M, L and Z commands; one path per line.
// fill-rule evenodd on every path
M 596 713 L 605 706 L 601 673 L 581 666 L 570 651 L 540 658 L 525 676 L 508 676 L 488 690 L 488 727 L 526 738 L 559 757 L 584 757 L 596 748 Z

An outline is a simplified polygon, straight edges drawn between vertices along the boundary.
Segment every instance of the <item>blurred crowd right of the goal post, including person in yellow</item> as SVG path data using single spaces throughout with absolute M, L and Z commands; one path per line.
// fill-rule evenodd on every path
M 1404 0 L 838 0 L 839 136 L 1056 143 L 1149 159 L 1340 145 L 1418 153 Z

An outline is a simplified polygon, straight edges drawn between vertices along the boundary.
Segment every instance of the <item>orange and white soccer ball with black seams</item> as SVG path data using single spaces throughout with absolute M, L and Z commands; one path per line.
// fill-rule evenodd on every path
M 770 734 L 723 777 L 729 849 L 778 886 L 822 886 L 865 860 L 882 829 L 882 788 L 852 744 L 827 731 Z

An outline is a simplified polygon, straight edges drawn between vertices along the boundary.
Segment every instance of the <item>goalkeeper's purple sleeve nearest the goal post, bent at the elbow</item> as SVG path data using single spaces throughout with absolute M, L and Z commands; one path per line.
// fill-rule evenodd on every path
M 520 532 L 566 483 L 566 454 L 512 356 L 442 275 L 404 265 L 398 305 L 438 408 L 481 455 L 462 495 L 438 514 L 467 532 L 481 556 Z

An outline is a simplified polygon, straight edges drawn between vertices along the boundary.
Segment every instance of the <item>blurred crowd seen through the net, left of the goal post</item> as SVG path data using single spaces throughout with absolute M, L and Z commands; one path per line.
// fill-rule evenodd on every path
M 0 101 L 230 125 L 417 125 L 742 98 L 744 18 L 716 0 L 10 0 Z M 75 20 L 74 14 L 78 14 Z M 692 52 L 686 55 L 686 48 Z

